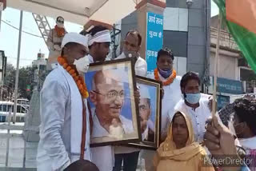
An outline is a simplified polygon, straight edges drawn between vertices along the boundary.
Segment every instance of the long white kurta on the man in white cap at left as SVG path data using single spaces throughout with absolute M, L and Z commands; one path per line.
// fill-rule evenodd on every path
M 47 76 L 42 87 L 40 102 L 38 171 L 60 170 L 64 165 L 67 166 L 70 162 L 79 159 L 82 139 L 82 97 L 74 79 L 62 66 L 58 65 L 58 68 Z M 90 120 L 86 100 L 85 105 L 87 114 L 85 159 L 90 161 Z

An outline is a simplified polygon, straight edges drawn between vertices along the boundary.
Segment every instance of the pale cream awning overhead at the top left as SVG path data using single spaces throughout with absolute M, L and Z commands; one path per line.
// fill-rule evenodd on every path
M 85 25 L 90 20 L 113 25 L 135 10 L 136 0 L 7 0 L 7 6 Z

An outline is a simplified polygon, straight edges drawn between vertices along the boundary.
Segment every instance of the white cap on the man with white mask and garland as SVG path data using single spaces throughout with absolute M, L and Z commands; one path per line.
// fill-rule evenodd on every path
M 69 42 L 75 42 L 88 48 L 88 38 L 82 34 L 68 33 L 62 39 L 62 48 Z

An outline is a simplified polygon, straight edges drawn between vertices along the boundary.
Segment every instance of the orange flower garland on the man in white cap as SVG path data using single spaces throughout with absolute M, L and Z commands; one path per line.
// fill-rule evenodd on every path
M 66 62 L 65 58 L 58 57 L 58 63 L 63 66 L 63 68 L 74 78 L 74 82 L 78 85 L 78 89 L 82 95 L 82 97 L 87 98 L 89 97 L 89 93 L 86 87 L 86 83 L 84 79 L 78 75 L 78 72 L 76 70 L 72 69 L 71 66 L 69 66 Z

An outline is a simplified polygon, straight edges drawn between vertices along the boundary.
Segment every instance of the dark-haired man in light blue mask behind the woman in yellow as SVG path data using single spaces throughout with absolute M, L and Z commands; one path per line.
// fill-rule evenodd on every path
M 182 77 L 181 89 L 183 98 L 174 107 L 174 111 L 188 113 L 194 129 L 194 140 L 202 143 L 206 132 L 206 120 L 211 116 L 207 97 L 202 97 L 199 90 L 200 78 L 194 72 L 188 72 Z M 170 120 L 174 114 L 170 115 Z

